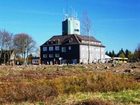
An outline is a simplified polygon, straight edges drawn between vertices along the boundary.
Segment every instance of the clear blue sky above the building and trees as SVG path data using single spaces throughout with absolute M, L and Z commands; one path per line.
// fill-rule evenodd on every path
M 64 14 L 87 12 L 91 36 L 106 51 L 134 51 L 140 43 L 140 0 L 0 0 L 0 30 L 27 33 L 39 47 L 53 35 L 62 34 Z

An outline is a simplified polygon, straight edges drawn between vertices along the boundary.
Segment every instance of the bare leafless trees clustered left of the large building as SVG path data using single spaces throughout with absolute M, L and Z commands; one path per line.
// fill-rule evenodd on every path
M 5 51 L 14 51 L 16 56 L 25 59 L 35 50 L 35 45 L 36 42 L 27 33 L 14 35 L 6 30 L 0 30 L 0 58 L 2 58 L 2 53 Z

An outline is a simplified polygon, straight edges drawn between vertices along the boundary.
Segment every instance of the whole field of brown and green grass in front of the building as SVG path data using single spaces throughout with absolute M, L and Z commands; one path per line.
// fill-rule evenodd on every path
M 139 63 L 0 66 L 0 104 L 139 105 L 139 70 Z

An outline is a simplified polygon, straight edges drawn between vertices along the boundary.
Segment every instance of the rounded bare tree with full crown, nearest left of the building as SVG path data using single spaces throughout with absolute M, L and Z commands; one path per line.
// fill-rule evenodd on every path
M 28 34 L 19 33 L 14 36 L 14 47 L 16 53 L 22 55 L 26 63 L 26 57 L 35 48 L 35 41 Z

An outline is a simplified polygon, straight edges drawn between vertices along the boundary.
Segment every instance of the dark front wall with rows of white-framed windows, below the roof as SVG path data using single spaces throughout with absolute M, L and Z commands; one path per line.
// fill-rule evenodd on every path
M 57 51 L 55 50 L 56 46 L 59 46 Z M 43 51 L 43 47 L 46 47 L 47 51 Z M 53 51 L 49 51 L 49 47 L 53 47 Z M 41 64 L 60 63 L 60 58 L 62 58 L 61 63 L 79 63 L 79 45 L 48 45 L 40 48 Z M 49 57 L 49 54 L 52 54 L 53 57 Z M 59 54 L 59 57 L 56 57 L 55 54 Z

